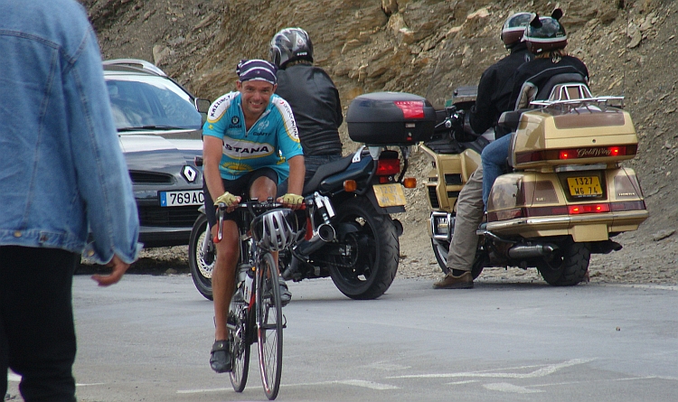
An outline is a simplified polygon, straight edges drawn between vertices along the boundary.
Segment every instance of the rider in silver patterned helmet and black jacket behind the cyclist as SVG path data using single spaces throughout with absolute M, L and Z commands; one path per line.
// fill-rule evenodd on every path
M 313 65 L 313 42 L 301 28 L 276 33 L 269 58 L 278 67 L 276 95 L 287 100 L 297 122 L 308 182 L 319 166 L 342 157 L 339 91 L 325 70 Z

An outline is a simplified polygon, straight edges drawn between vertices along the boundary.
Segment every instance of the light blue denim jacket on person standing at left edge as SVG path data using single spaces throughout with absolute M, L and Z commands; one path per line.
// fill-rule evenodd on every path
M 0 2 L 0 246 L 127 263 L 138 216 L 99 44 L 74 0 Z

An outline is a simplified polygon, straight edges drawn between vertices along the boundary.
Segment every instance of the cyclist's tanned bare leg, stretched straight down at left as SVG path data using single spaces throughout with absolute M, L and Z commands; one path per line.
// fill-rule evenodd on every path
M 212 228 L 212 237 L 217 235 L 217 227 Z M 212 296 L 214 298 L 214 332 L 215 341 L 225 341 L 229 338 L 226 328 L 226 317 L 229 313 L 231 296 L 235 291 L 235 268 L 238 264 L 240 242 L 238 226 L 234 220 L 223 221 L 223 237 L 217 248 L 217 260 L 212 272 Z

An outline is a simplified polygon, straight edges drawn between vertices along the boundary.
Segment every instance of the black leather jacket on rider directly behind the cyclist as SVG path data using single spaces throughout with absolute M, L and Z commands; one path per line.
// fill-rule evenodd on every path
M 342 105 L 325 70 L 306 63 L 278 70 L 276 93 L 292 107 L 305 156 L 342 154 Z

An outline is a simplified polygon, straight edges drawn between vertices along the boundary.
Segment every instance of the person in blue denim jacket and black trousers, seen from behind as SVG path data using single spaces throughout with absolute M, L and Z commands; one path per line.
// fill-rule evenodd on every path
M 118 282 L 137 206 L 83 7 L 0 2 L 0 54 L 0 397 L 9 368 L 25 401 L 74 401 L 72 276 L 84 252 Z

